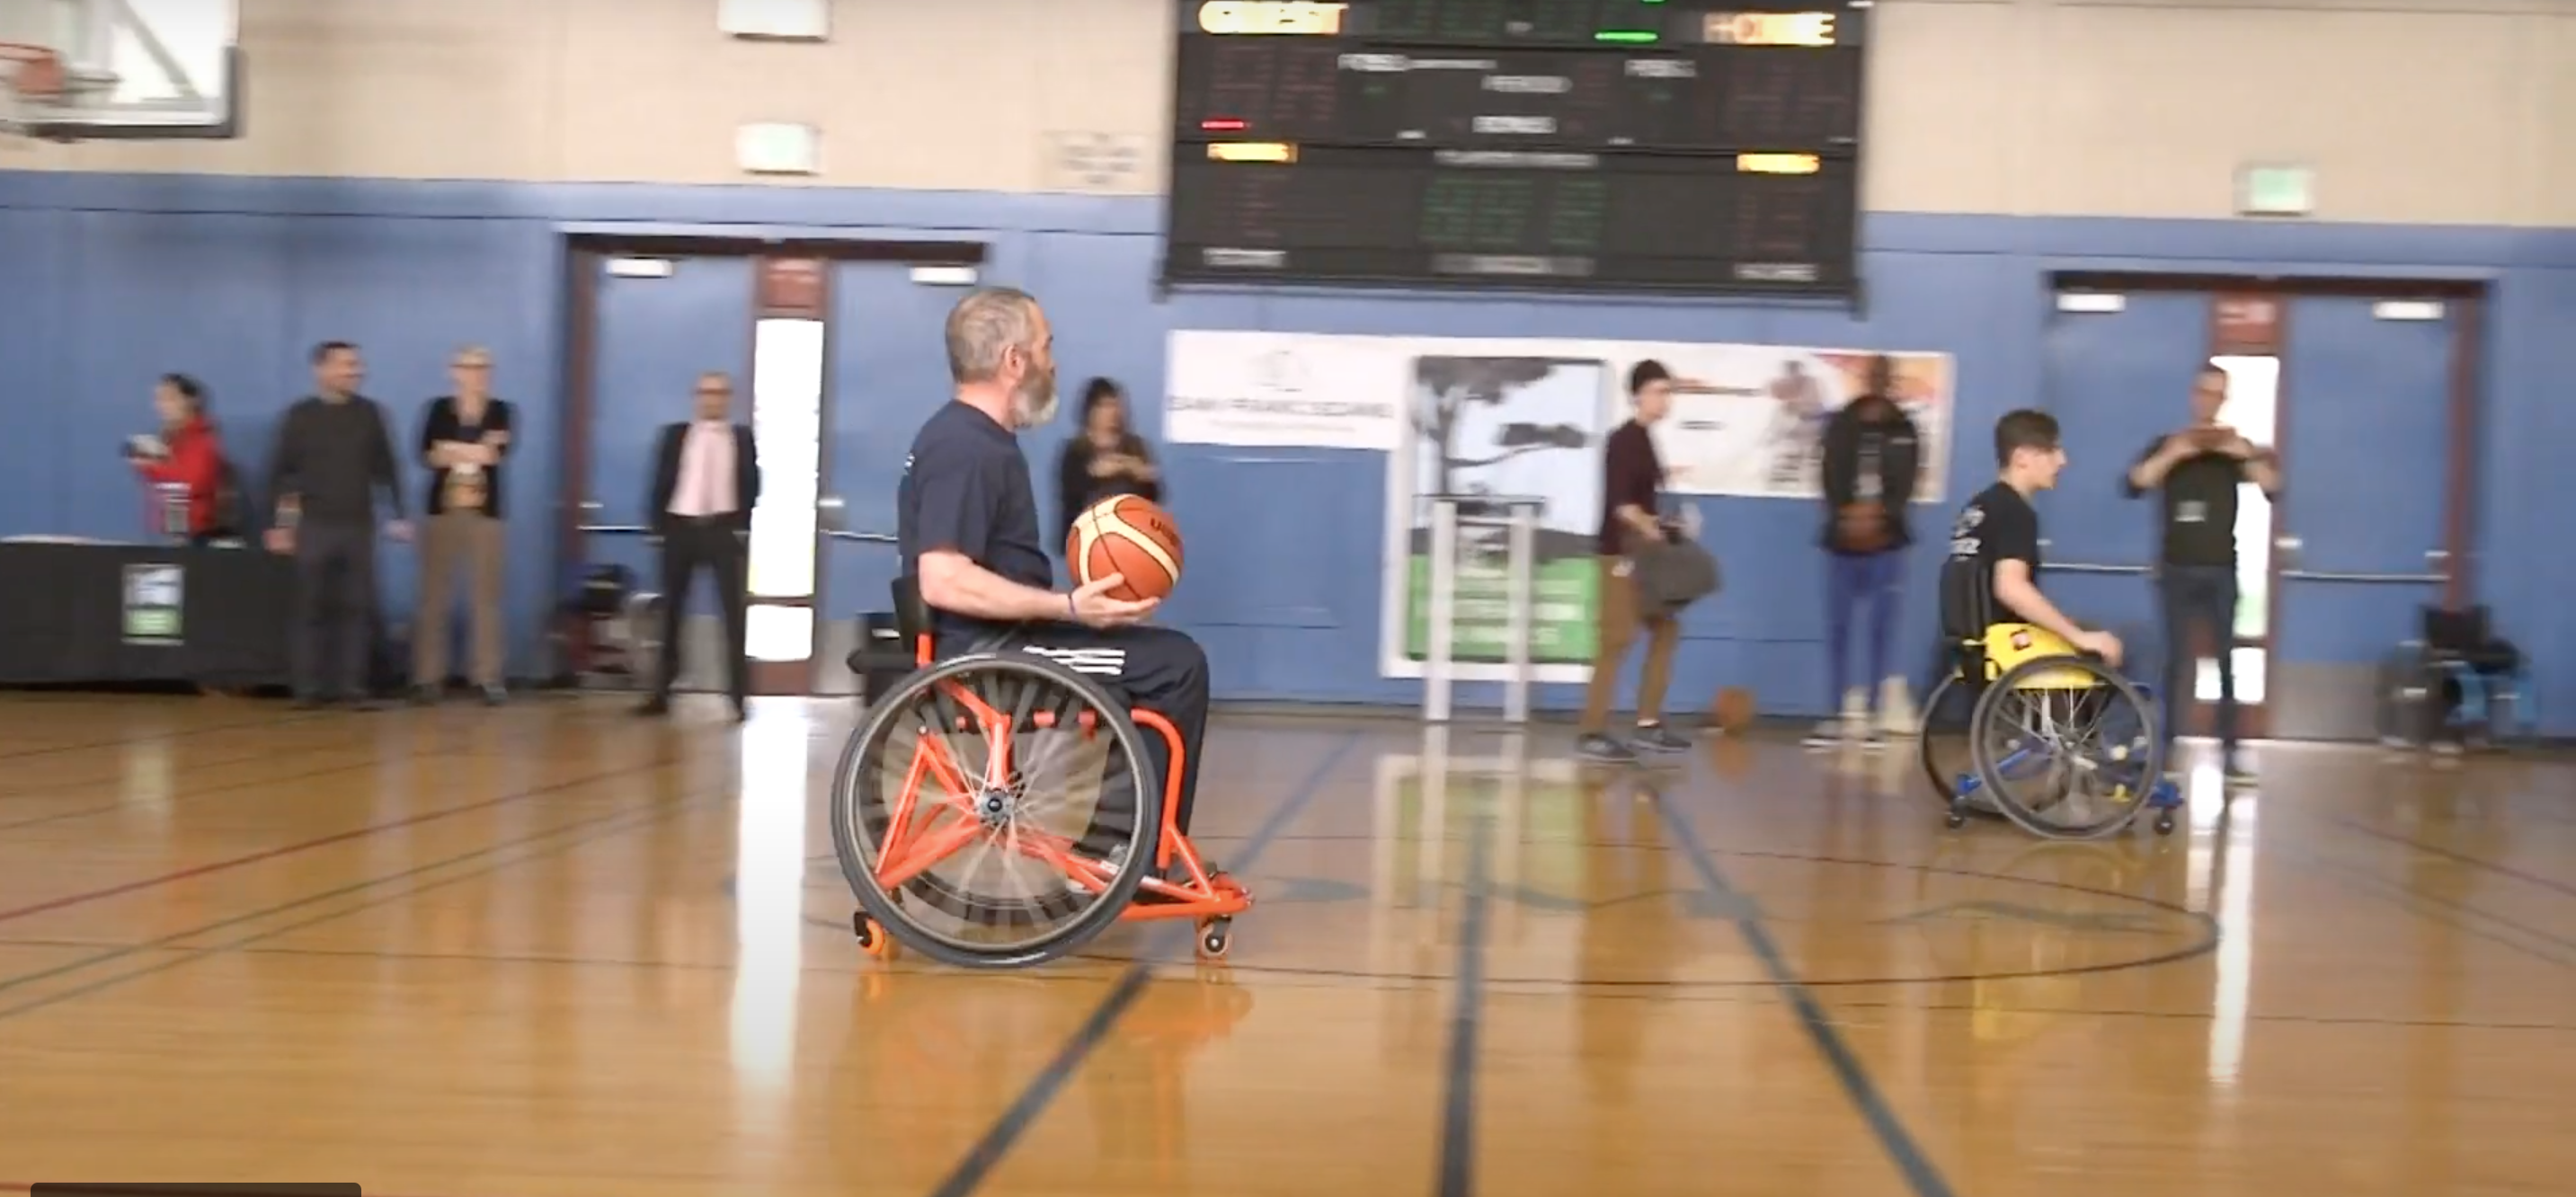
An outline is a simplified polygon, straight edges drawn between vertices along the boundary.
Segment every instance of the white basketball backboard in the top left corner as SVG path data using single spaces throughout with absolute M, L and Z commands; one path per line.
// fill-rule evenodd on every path
M 0 41 L 49 46 L 70 85 L 21 100 L 59 142 L 242 136 L 240 0 L 0 0 Z

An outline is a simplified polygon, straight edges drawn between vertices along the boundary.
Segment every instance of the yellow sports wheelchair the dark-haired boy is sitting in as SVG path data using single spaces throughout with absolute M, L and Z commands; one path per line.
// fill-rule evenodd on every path
M 1953 829 L 1986 816 L 2043 839 L 2105 839 L 2156 811 L 2156 834 L 2172 834 L 2182 806 L 2148 690 L 2030 623 L 1953 641 L 1919 752 Z

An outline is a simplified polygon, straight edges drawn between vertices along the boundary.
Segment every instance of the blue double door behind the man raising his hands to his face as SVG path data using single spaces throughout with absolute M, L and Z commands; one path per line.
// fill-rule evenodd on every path
M 2184 734 L 2210 734 L 2218 654 L 2233 664 L 2239 734 L 2354 739 L 2378 726 L 2380 662 L 2452 592 L 2452 358 L 2442 301 L 2370 293 L 2159 291 L 2117 281 L 2056 296 L 2043 404 L 2069 466 L 2040 499 L 2043 587 L 2069 615 L 2120 631 L 2133 674 L 2182 654 Z M 2202 366 L 2228 378 L 2221 422 L 2277 448 L 2277 502 L 2246 484 L 2236 517 L 2236 613 L 2223 636 L 2174 644 L 2156 600 L 2159 502 L 2128 469 L 2190 420 Z

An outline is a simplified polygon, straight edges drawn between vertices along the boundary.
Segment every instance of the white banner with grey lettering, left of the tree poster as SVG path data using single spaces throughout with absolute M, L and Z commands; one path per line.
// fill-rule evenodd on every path
M 1162 438 L 1175 445 L 1396 448 L 1404 342 L 1175 332 Z

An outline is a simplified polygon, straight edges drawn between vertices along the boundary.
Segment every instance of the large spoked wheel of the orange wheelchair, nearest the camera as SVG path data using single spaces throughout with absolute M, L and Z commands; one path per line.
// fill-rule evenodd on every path
M 1126 708 L 1036 654 L 914 672 L 832 775 L 832 849 L 866 919 L 961 968 L 1090 942 L 1136 898 L 1159 829 L 1162 788 Z

